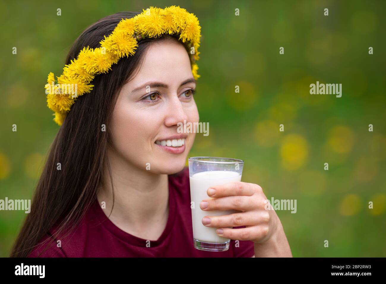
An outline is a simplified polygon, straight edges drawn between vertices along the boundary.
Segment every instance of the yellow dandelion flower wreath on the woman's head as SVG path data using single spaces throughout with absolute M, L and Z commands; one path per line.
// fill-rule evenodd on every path
M 190 48 L 192 74 L 195 79 L 199 59 L 201 27 L 197 17 L 179 6 L 165 9 L 150 7 L 130 19 L 122 19 L 112 34 L 105 36 L 99 48 L 84 47 L 77 58 L 71 60 L 63 68 L 63 74 L 56 77 L 50 72 L 47 79 L 47 106 L 54 111 L 57 124 L 62 125 L 71 105 L 76 98 L 90 93 L 94 85 L 90 82 L 95 75 L 107 73 L 111 66 L 124 56 L 132 56 L 138 46 L 137 42 L 146 37 L 159 37 L 162 34 L 176 34 L 179 39 Z

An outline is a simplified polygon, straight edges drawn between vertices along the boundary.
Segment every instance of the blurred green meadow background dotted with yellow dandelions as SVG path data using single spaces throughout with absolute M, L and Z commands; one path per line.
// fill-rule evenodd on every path
M 189 156 L 243 159 L 242 181 L 296 199 L 296 214 L 277 211 L 294 257 L 385 257 L 384 1 L 0 1 L 0 199 L 32 197 L 58 131 L 44 84 L 76 37 L 151 5 L 200 20 L 195 99 L 210 134 L 196 134 Z M 316 81 L 342 83 L 342 97 L 310 95 Z M 0 211 L 0 257 L 24 218 Z

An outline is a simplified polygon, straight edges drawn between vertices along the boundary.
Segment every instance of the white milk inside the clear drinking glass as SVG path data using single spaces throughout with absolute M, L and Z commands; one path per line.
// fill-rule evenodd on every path
M 195 208 L 192 208 L 193 237 L 196 240 L 208 243 L 225 243 L 229 239 L 216 234 L 217 228 L 210 228 L 202 224 L 204 216 L 221 216 L 235 213 L 235 210 L 203 211 L 200 202 L 212 198 L 207 194 L 209 187 L 214 185 L 227 184 L 229 182 L 240 182 L 241 175 L 232 171 L 207 171 L 194 173 L 190 177 L 190 198 L 194 201 Z M 232 228 L 232 227 L 227 227 Z

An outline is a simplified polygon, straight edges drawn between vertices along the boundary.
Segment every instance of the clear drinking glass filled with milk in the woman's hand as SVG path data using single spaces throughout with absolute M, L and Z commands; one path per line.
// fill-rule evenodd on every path
M 211 252 L 228 250 L 230 239 L 217 235 L 217 228 L 203 225 L 202 219 L 205 216 L 222 216 L 237 211 L 203 211 L 200 208 L 200 202 L 213 198 L 207 194 L 209 187 L 229 182 L 240 182 L 244 161 L 219 157 L 191 157 L 188 158 L 188 164 L 194 247 L 198 250 Z

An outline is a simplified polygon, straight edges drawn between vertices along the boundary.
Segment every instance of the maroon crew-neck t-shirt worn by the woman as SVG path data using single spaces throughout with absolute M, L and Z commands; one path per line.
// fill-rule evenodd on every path
M 169 216 L 166 228 L 158 240 L 150 241 L 130 235 L 107 218 L 97 198 L 81 219 L 80 224 L 65 238 L 59 235 L 61 247 L 53 241 L 40 257 L 252 257 L 254 243 L 230 241 L 225 252 L 207 252 L 193 246 L 188 168 L 169 175 Z M 208 211 L 210 216 L 210 211 Z M 234 228 L 245 228 L 239 226 Z M 39 244 L 51 238 L 53 227 Z M 44 246 L 45 247 L 45 246 Z M 44 247 L 38 245 L 29 255 L 37 257 Z

